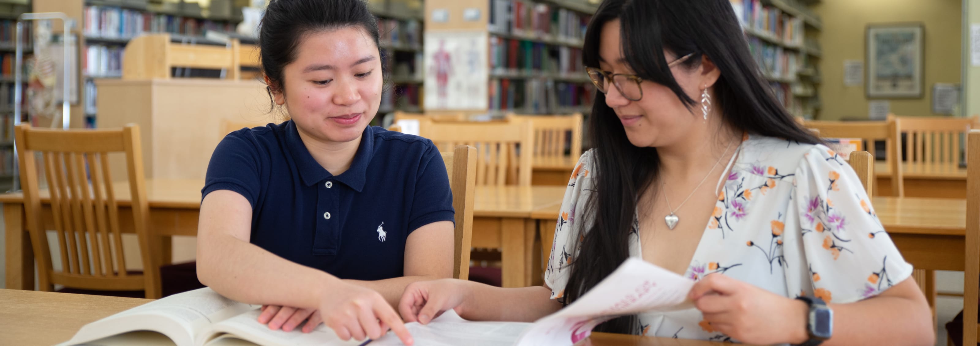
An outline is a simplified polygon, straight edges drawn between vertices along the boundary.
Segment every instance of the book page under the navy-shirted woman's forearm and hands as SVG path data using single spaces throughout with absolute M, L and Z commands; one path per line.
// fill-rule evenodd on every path
M 259 310 L 253 310 L 231 319 L 215 323 L 196 338 L 197 345 L 215 346 L 228 344 L 221 341 L 223 333 L 229 336 L 266 346 L 359 346 L 365 341 L 341 340 L 337 334 L 324 324 L 319 324 L 309 333 L 300 328 L 293 331 L 270 330 L 269 325 L 259 322 Z M 212 343 L 214 342 L 214 343 Z

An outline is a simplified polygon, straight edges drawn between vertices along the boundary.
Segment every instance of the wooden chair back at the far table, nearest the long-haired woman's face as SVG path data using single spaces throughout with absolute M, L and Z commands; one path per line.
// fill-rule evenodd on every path
M 512 122 L 530 122 L 534 128 L 534 157 L 578 159 L 582 155 L 582 114 L 570 116 L 519 116 L 507 115 Z M 565 147 L 568 136 L 570 145 Z M 568 155 L 565 155 L 565 150 Z

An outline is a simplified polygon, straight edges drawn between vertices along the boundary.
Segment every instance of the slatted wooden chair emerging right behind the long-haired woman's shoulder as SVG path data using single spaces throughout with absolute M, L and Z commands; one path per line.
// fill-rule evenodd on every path
M 899 165 L 899 161 L 895 158 L 901 157 L 901 148 L 898 148 L 897 144 L 899 142 L 894 138 L 901 138 L 898 136 L 898 131 L 895 128 L 895 123 L 892 121 L 888 122 L 818 122 L 818 121 L 806 121 L 803 125 L 811 130 L 814 130 L 817 135 L 824 138 L 860 138 L 864 144 L 863 147 L 871 155 L 871 163 L 874 164 L 874 142 L 876 140 L 885 140 L 885 163 L 888 165 L 889 170 L 892 173 L 892 194 L 897 197 L 905 196 L 905 189 L 903 188 L 902 179 L 902 167 Z M 856 170 L 857 171 L 857 170 Z M 873 185 L 876 183 L 876 179 L 872 178 L 871 183 L 868 186 L 869 190 L 873 189 Z M 870 196 L 870 194 L 868 194 Z

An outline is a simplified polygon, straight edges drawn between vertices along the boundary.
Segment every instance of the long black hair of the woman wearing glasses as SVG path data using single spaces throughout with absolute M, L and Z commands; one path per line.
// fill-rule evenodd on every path
M 663 51 L 693 54 L 683 66 L 696 68 L 711 58 L 720 76 L 714 83 L 714 102 L 721 119 L 738 131 L 781 137 L 801 143 L 817 138 L 801 128 L 779 104 L 749 52 L 742 27 L 728 0 L 605 0 L 589 22 L 582 51 L 588 67 L 599 67 L 603 25 L 619 20 L 622 55 L 644 80 L 662 84 L 692 109 L 696 105 L 670 73 Z M 696 117 L 692 113 L 692 117 Z M 587 204 L 594 223 L 582 239 L 578 260 L 571 265 L 564 299 L 571 303 L 613 272 L 629 256 L 629 233 L 637 199 L 650 191 L 660 159 L 656 148 L 629 142 L 606 95 L 597 92 L 589 132 L 596 191 Z M 635 316 L 599 325 L 597 331 L 638 333 Z

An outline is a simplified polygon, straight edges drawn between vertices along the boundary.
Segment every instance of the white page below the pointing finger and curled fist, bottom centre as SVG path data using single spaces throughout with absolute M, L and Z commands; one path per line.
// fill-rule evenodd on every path
M 531 323 L 500 321 L 466 321 L 455 311 L 443 313 L 428 324 L 405 323 L 416 345 L 420 346 L 511 346 Z M 393 332 L 368 346 L 401 346 Z

